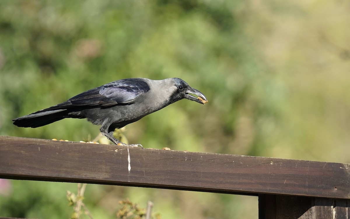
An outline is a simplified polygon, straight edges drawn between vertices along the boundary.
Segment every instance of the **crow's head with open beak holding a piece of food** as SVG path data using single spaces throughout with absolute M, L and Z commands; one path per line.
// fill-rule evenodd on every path
M 205 104 L 208 102 L 207 98 L 201 93 L 200 91 L 191 88 L 185 81 L 183 81 L 180 78 L 172 78 L 174 80 L 174 85 L 175 88 L 173 88 L 174 93 L 173 93 L 173 98 L 176 100 L 186 98 L 189 100 L 196 101 L 197 103 L 200 104 Z M 193 96 L 196 95 L 197 97 Z M 175 100 L 175 101 L 176 101 Z

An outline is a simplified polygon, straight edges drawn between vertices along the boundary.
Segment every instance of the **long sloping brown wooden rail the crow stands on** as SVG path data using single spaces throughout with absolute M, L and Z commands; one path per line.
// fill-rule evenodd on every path
M 349 164 L 7 136 L 0 136 L 0 178 L 350 198 Z

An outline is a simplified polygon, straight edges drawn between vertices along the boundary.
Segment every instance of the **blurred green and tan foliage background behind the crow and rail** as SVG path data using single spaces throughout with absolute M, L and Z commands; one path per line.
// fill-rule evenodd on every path
M 130 124 L 130 143 L 350 163 L 350 2 L 0 1 L 0 135 L 86 141 L 99 127 L 12 119 L 130 77 L 179 77 L 205 94 Z M 1 157 L 1 154 L 0 154 Z M 48 167 L 55 168 L 55 167 Z M 0 216 L 69 218 L 74 183 L 1 180 Z M 257 218 L 257 197 L 88 185 L 94 218 L 118 201 L 163 219 Z

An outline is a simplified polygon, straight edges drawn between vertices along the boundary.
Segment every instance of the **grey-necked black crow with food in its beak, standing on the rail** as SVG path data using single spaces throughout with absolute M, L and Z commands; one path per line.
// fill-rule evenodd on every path
M 197 97 L 195 97 L 195 96 Z M 100 132 L 117 145 L 125 144 L 113 136 L 115 129 L 136 122 L 181 99 L 200 104 L 208 102 L 200 91 L 180 78 L 151 80 L 127 78 L 80 93 L 63 103 L 13 119 L 18 127 L 41 127 L 64 118 L 87 119 L 100 125 Z

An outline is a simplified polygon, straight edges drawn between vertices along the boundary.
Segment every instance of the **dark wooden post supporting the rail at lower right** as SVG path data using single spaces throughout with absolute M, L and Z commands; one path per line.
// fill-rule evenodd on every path
M 259 195 L 259 219 L 350 219 L 349 199 Z

